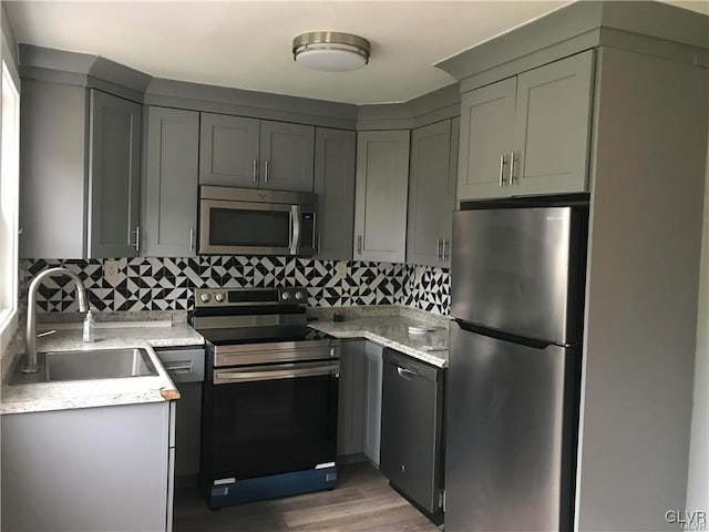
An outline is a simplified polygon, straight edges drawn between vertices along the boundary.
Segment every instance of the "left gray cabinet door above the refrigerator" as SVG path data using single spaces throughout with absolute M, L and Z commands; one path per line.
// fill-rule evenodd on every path
M 461 96 L 458 200 L 510 194 L 505 180 L 513 145 L 516 78 Z

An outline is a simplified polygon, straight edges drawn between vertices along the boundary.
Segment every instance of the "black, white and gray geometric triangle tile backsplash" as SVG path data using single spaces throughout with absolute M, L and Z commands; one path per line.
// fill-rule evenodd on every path
M 195 288 L 305 286 L 310 306 L 408 305 L 449 315 L 449 270 L 361 260 L 208 255 L 188 258 L 116 258 L 115 282 L 103 276 L 105 259 L 22 259 L 20 286 L 43 269 L 63 266 L 81 277 L 99 310 L 191 310 Z M 78 310 L 69 277 L 45 279 L 40 311 Z

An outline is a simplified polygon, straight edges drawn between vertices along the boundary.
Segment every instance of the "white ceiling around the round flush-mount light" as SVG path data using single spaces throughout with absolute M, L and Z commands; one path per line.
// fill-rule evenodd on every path
M 454 80 L 434 63 L 568 3 L 552 1 L 19 1 L 18 42 L 103 55 L 157 78 L 347 103 L 402 102 Z M 671 2 L 709 12 L 709 1 Z M 370 64 L 328 73 L 292 61 L 292 38 L 372 43 Z

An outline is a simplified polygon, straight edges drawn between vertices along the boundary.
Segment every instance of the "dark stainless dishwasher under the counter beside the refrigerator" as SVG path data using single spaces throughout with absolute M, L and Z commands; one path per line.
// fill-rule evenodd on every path
M 435 524 L 443 522 L 444 370 L 384 349 L 380 471 Z

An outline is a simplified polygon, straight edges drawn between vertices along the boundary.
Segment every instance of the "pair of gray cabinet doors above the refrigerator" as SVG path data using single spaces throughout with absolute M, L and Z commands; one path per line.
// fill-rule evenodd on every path
M 462 95 L 458 200 L 586 191 L 594 52 Z

